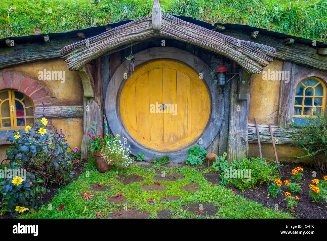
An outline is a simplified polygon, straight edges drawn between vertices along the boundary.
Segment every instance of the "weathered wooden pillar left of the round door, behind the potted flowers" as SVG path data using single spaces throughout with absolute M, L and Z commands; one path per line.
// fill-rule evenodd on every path
M 84 114 L 83 114 L 83 139 L 81 144 L 81 159 L 90 159 L 93 153 L 89 152 L 92 147 L 88 134 L 102 135 L 102 61 L 96 60 L 95 66 L 87 64 L 82 70 L 78 70 L 84 89 Z

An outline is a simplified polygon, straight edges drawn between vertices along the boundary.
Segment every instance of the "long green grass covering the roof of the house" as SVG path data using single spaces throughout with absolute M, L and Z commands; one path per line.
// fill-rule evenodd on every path
M 325 42 L 327 0 L 161 0 L 162 11 Z M 0 37 L 95 27 L 151 13 L 153 0 L 2 0 Z

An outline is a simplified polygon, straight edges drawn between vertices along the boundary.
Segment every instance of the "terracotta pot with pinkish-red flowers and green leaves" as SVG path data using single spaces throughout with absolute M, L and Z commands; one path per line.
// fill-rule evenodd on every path
M 100 172 L 109 171 L 112 167 L 111 164 L 109 164 L 107 161 L 105 161 L 100 155 L 100 151 L 101 151 L 102 147 L 104 146 L 105 142 L 108 140 L 108 136 L 105 135 L 104 138 L 102 138 L 101 135 L 91 136 L 91 134 L 89 134 L 89 136 L 92 138 L 91 151 L 93 151 L 93 153 L 94 153 L 96 168 Z

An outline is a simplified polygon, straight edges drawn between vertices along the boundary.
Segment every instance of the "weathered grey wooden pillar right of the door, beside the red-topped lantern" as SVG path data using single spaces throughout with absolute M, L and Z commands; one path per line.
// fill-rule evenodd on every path
M 227 160 L 229 163 L 249 154 L 248 117 L 250 106 L 250 78 L 241 69 L 238 81 L 231 83 Z M 241 101 L 238 101 L 241 100 Z

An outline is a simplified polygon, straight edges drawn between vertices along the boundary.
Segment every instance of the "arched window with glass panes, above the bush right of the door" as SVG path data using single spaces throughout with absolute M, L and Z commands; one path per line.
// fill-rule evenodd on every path
M 325 109 L 326 86 L 316 77 L 302 80 L 295 90 L 293 119 L 300 120 L 308 115 L 320 115 Z M 301 121 L 300 121 L 301 122 Z

